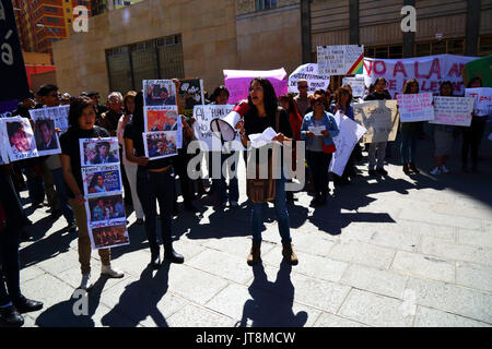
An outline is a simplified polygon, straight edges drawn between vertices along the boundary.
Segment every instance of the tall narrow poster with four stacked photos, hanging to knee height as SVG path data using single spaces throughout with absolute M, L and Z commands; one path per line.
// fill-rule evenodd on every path
M 81 139 L 79 142 L 92 248 L 99 250 L 129 244 L 118 139 Z

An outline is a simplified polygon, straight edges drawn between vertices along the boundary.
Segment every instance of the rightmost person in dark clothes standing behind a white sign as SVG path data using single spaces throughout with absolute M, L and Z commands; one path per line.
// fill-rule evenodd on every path
M 482 80 L 476 76 L 468 83 L 468 88 L 482 87 Z M 485 130 L 488 116 L 472 113 L 471 124 L 462 129 L 461 170 L 468 173 L 468 153 L 471 156 L 471 171 L 478 173 L 478 152 Z

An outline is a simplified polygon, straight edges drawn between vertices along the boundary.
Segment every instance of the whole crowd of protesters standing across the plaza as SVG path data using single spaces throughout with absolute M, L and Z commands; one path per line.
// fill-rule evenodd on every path
M 177 89 L 179 81 L 173 80 Z M 386 81 L 377 79 L 371 85 L 364 97 L 360 100 L 384 100 L 391 99 L 386 89 Z M 480 87 L 481 80 L 472 79 L 468 87 Z M 157 88 L 159 87 L 159 88 Z M 358 144 L 344 168 L 342 176 L 337 176 L 328 171 L 329 163 L 336 151 L 333 137 L 338 135 L 339 128 L 333 118 L 337 111 L 342 111 L 348 118 L 354 119 L 352 88 L 344 85 L 335 93 L 331 89 L 318 89 L 313 95 L 307 93 L 308 82 L 300 81 L 297 84 L 298 94 L 276 96 L 273 86 L 267 79 L 257 77 L 250 83 L 247 97 L 248 110 L 244 118 L 237 123 L 236 129 L 241 135 L 241 141 L 247 147 L 249 135 L 262 133 L 266 129 L 272 128 L 277 136 L 272 141 L 279 143 L 305 141 L 306 182 L 305 191 L 313 195 L 311 205 L 320 207 L 327 204 L 329 191 L 328 182 L 331 179 L 335 185 L 350 184 L 351 178 L 358 174 L 355 164 L 362 160 L 362 149 L 368 153 L 368 176 L 388 176 L 385 170 L 385 158 L 388 147 L 393 142 L 380 142 L 371 144 Z M 403 94 L 418 94 L 419 82 L 414 79 L 407 81 Z M 141 92 L 130 91 L 122 96 L 118 92 L 113 92 L 107 97 L 106 106 L 101 105 L 97 92 L 82 93 L 80 96 L 61 95 L 55 85 L 43 85 L 36 93 L 26 96 L 19 105 L 13 116 L 30 118 L 28 110 L 32 108 L 55 107 L 70 105 L 68 123 L 69 129 L 59 135 L 61 146 L 60 155 L 49 155 L 44 157 L 30 158 L 15 161 L 0 167 L 0 254 L 1 254 L 1 276 L 0 280 L 0 317 L 10 324 L 22 324 L 22 312 L 35 311 L 43 306 L 40 302 L 28 300 L 22 296 L 19 278 L 19 241 L 20 234 L 25 233 L 24 227 L 31 221 L 21 204 L 20 192 L 27 189 L 32 207 L 37 209 L 43 206 L 49 207 L 49 213 L 58 218 L 63 215 L 68 222 L 67 230 L 79 231 L 78 253 L 81 264 L 82 279 L 81 289 L 90 290 L 91 278 L 91 239 L 87 229 L 87 213 L 85 210 L 83 181 L 81 174 L 80 139 L 97 139 L 117 136 L 119 143 L 120 172 L 125 188 L 125 205 L 127 212 L 132 209 L 136 213 L 137 225 L 144 225 L 147 239 L 151 251 L 151 268 L 159 268 L 162 264 L 160 245 L 157 243 L 157 202 L 159 216 L 161 219 L 161 231 L 164 258 L 171 263 L 184 263 L 184 256 L 173 249 L 172 225 L 173 216 L 179 215 L 178 191 L 176 191 L 175 174 L 179 177 L 179 193 L 183 196 L 184 209 L 196 213 L 194 201 L 203 195 L 209 195 L 213 200 L 215 210 L 224 209 L 227 206 L 237 208 L 239 202 L 238 181 L 235 176 L 224 173 L 213 173 L 212 157 L 213 152 L 206 154 L 209 165 L 209 179 L 199 178 L 192 180 L 187 173 L 190 159 L 196 154 L 188 154 L 187 146 L 196 137 L 194 133 L 194 118 L 181 116 L 183 122 L 183 147 L 177 149 L 177 155 L 173 157 L 151 160 L 145 156 L 144 132 L 144 98 L 165 99 L 168 101 L 165 87 L 154 86 L 144 96 Z M 453 84 L 443 82 L 441 84 L 442 96 L 454 96 Z M 226 105 L 230 92 L 224 86 L 219 86 L 207 96 L 207 104 Z M 171 101 L 168 101 L 171 104 Z M 173 101 L 174 103 L 174 101 Z M 180 110 L 178 109 L 178 113 Z M 446 167 L 450 155 L 452 145 L 456 142 L 455 134 L 462 133 L 462 171 L 468 172 L 468 153 L 471 151 L 471 170 L 478 169 L 478 149 L 483 136 L 487 117 L 473 116 L 469 128 L 457 128 L 448 125 L 434 125 L 435 143 L 435 168 L 432 174 L 449 172 Z M 39 124 L 39 133 L 47 146 L 52 142 L 52 134 L 49 133 L 49 125 Z M 320 130 L 320 131 L 316 131 Z M 399 132 L 401 135 L 400 156 L 402 171 L 406 174 L 414 176 L 420 171 L 417 167 L 417 146 L 420 135 L 423 132 L 422 122 L 400 122 Z M 154 144 L 155 143 L 155 144 Z M 164 147 L 172 148 L 174 143 L 166 143 Z M 160 147 L 157 140 L 151 139 L 149 148 Z M 295 146 L 292 147 L 294 158 Z M 87 151 L 87 149 L 86 149 Z M 92 151 L 92 153 L 91 153 Z M 115 163 L 116 154 L 110 153 L 109 143 L 99 143 L 97 148 L 89 149 L 85 154 L 91 164 Z M 159 149 L 157 153 L 165 153 Z M 241 152 L 220 154 L 221 165 L 226 161 L 237 164 Z M 245 152 L 246 153 L 246 152 Z M 294 161 L 295 163 L 295 161 Z M 222 168 L 222 166 L 221 166 Z M 200 169 L 199 169 L 200 170 Z M 232 171 L 235 171 L 232 168 Z M 218 174 L 218 176 L 216 176 Z M 231 174 L 231 173 L 230 173 Z M 227 178 L 229 177 L 229 178 Z M 290 233 L 289 204 L 296 201 L 293 192 L 285 191 L 288 179 L 282 173 L 280 179 L 274 181 L 274 196 L 271 202 L 274 205 L 278 228 L 282 242 L 282 255 L 284 260 L 295 265 L 298 263 L 297 256 L 292 248 Z M 103 176 L 94 176 L 90 184 L 95 192 L 105 192 Z M 245 198 L 245 197 L 244 197 Z M 265 217 L 266 202 L 249 202 L 251 209 L 251 236 L 253 244 L 247 256 L 247 263 L 255 265 L 260 262 L 261 249 L 261 226 Z M 125 216 L 125 207 L 121 201 L 116 203 L 99 200 L 92 206 L 92 219 L 99 220 L 115 215 Z M 7 219 L 8 217 L 8 219 Z M 108 237 L 116 236 L 118 239 L 126 239 L 121 233 L 99 233 L 96 244 L 112 245 Z M 25 236 L 22 238 L 26 238 Z M 110 250 L 99 249 L 98 254 L 102 262 L 102 274 L 114 278 L 120 278 L 124 273 L 112 266 Z M 7 289 L 5 289 L 7 285 Z

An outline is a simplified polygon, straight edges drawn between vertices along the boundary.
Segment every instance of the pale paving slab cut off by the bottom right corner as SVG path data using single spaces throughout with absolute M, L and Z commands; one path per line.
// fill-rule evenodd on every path
M 414 327 L 492 327 L 492 325 L 441 310 L 419 306 Z

